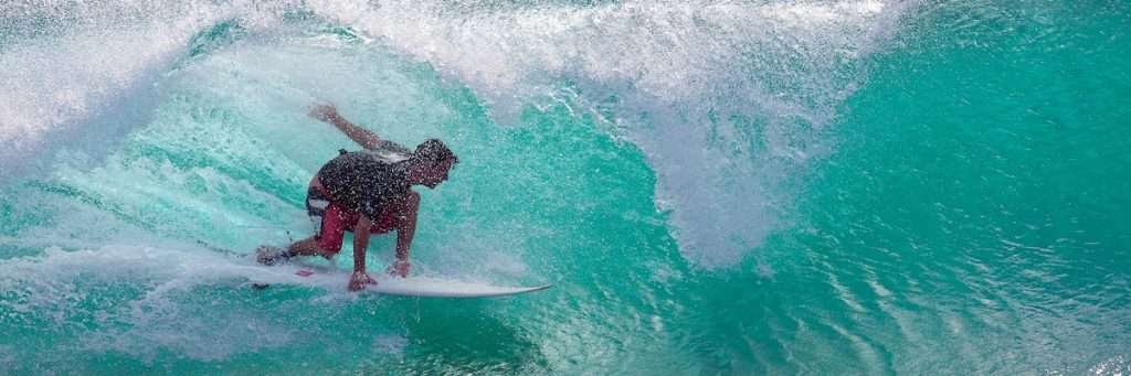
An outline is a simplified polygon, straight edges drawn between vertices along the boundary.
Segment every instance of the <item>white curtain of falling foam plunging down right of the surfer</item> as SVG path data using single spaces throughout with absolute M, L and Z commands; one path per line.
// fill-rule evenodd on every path
M 618 135 L 648 155 L 681 250 L 707 266 L 733 264 L 780 225 L 791 181 L 829 152 L 822 129 L 907 7 L 309 5 L 466 82 L 503 123 L 562 78 L 582 106 L 614 98 Z

